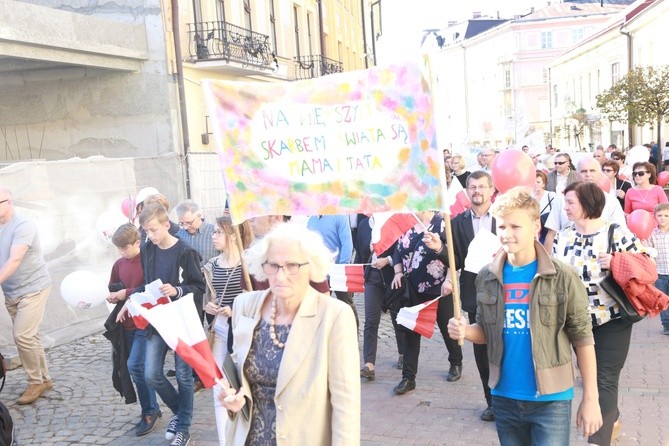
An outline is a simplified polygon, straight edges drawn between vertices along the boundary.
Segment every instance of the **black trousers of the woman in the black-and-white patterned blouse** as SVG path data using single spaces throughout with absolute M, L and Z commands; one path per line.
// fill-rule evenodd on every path
M 588 438 L 593 444 L 611 444 L 613 423 L 620 416 L 618 410 L 618 382 L 620 371 L 627 360 L 632 338 L 632 323 L 615 319 L 592 328 L 597 357 L 597 390 L 604 424 Z

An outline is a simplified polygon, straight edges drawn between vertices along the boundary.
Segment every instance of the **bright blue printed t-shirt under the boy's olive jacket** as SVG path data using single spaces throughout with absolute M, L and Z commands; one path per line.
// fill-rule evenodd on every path
M 504 265 L 504 355 L 500 379 L 491 392 L 521 401 L 561 401 L 574 398 L 574 389 L 549 395 L 537 394 L 530 335 L 530 282 L 537 273 L 537 261 Z

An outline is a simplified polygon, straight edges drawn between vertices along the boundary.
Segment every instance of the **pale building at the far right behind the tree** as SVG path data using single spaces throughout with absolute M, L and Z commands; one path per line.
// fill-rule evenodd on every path
M 551 127 L 556 147 L 578 150 L 611 143 L 628 147 L 656 139 L 649 126 L 609 122 L 597 109 L 597 95 L 634 67 L 669 64 L 664 47 L 668 27 L 669 1 L 639 0 L 551 61 Z M 665 124 L 662 134 L 667 132 Z

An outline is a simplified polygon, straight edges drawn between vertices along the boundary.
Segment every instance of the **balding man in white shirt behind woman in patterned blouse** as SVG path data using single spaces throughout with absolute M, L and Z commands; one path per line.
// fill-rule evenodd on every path
M 576 171 L 578 181 L 590 181 L 596 183 L 602 176 L 602 168 L 599 161 L 594 158 L 583 158 L 578 162 Z M 608 222 L 617 223 L 623 228 L 626 228 L 627 222 L 625 220 L 625 213 L 620 207 L 618 199 L 611 194 L 604 194 L 604 197 L 606 198 L 606 204 L 602 211 L 602 218 Z M 567 213 L 564 210 L 564 197 L 562 194 L 557 194 L 555 196 L 553 208 L 551 209 L 550 214 L 548 214 L 548 219 L 544 225 L 544 227 L 548 229 L 546 239 L 544 240 L 544 247 L 548 252 L 553 252 L 553 239 L 555 239 L 555 234 L 566 228 L 570 223 Z

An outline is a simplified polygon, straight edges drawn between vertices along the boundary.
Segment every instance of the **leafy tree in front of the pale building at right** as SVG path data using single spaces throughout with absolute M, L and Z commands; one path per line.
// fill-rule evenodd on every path
M 662 167 L 662 121 L 669 122 L 669 65 L 637 67 L 597 95 L 597 107 L 610 121 L 649 124 L 657 129 L 657 168 Z

